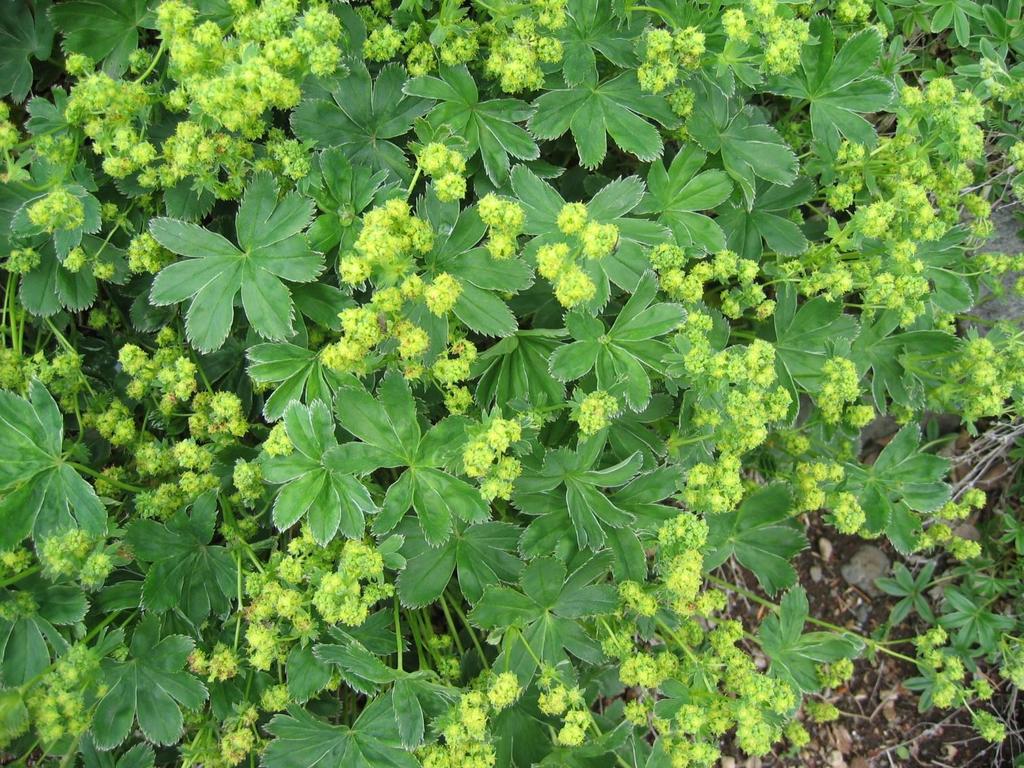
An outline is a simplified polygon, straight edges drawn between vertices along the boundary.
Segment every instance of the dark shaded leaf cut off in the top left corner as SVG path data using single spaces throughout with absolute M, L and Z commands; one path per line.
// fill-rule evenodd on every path
M 0 2 L 0 96 L 24 101 L 32 88 L 32 60 L 50 57 L 53 27 L 46 13 L 49 7 L 46 0 Z

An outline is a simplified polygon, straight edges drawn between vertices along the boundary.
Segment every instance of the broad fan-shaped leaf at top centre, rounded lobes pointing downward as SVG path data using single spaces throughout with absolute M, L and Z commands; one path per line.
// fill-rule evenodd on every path
M 608 136 L 639 160 L 655 160 L 664 144 L 647 119 L 666 128 L 679 124 L 665 98 L 640 89 L 634 72 L 602 83 L 588 74 L 580 85 L 547 91 L 534 104 L 537 112 L 529 119 L 534 135 L 555 139 L 571 132 L 585 168 L 597 168 L 604 161 Z

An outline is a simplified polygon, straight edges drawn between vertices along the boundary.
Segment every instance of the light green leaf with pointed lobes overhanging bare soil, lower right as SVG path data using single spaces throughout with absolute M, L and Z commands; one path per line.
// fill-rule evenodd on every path
M 831 632 L 804 634 L 808 615 L 807 593 L 794 587 L 785 593 L 777 612 L 761 623 L 758 639 L 765 655 L 771 659 L 771 672 L 802 691 L 820 689 L 817 665 L 851 658 L 862 643 L 850 635 Z

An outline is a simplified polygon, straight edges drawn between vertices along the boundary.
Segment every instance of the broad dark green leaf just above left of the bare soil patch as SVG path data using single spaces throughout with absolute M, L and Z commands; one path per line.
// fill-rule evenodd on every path
M 705 569 L 717 568 L 735 556 L 768 594 L 793 586 L 797 570 L 790 560 L 807 548 L 807 537 L 792 512 L 790 489 L 769 485 L 751 494 L 734 512 L 710 515 Z

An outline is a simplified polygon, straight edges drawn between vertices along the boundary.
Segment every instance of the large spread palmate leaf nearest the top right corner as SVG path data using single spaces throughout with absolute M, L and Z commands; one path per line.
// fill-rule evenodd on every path
M 867 147 L 874 145 L 874 126 L 863 113 L 882 112 L 893 100 L 892 83 L 873 74 L 882 55 L 882 35 L 868 27 L 852 35 L 836 51 L 831 23 L 815 16 L 810 23 L 811 41 L 801 51 L 799 75 L 780 79 L 771 90 L 810 102 L 811 132 L 829 152 L 841 138 Z

